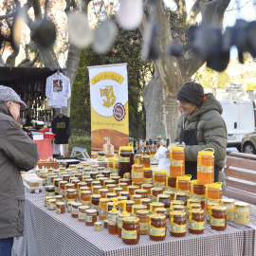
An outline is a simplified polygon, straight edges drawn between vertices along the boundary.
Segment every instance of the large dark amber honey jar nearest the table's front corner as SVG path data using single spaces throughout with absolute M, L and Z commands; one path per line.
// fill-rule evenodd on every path
M 139 240 L 137 217 L 126 217 L 122 219 L 121 238 L 125 245 L 137 245 Z

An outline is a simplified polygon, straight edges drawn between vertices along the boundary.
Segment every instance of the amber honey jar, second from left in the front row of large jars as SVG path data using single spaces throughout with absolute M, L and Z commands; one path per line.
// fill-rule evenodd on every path
M 149 236 L 153 241 L 163 241 L 166 236 L 165 216 L 152 214 L 149 216 Z

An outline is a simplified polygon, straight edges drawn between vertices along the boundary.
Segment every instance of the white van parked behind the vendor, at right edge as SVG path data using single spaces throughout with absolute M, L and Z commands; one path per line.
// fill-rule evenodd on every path
M 223 107 L 222 117 L 228 129 L 228 147 L 241 151 L 242 138 L 255 131 L 256 115 L 253 101 L 220 101 Z

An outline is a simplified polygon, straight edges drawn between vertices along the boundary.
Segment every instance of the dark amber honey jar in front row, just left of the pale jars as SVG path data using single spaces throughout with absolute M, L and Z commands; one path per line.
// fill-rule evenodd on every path
M 217 231 L 223 231 L 227 228 L 226 208 L 221 206 L 211 207 L 210 227 Z

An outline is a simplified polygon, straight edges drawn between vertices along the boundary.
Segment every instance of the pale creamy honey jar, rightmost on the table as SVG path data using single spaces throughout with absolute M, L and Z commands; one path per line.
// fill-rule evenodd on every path
M 248 204 L 244 202 L 234 203 L 233 222 L 241 226 L 247 226 L 249 223 Z

